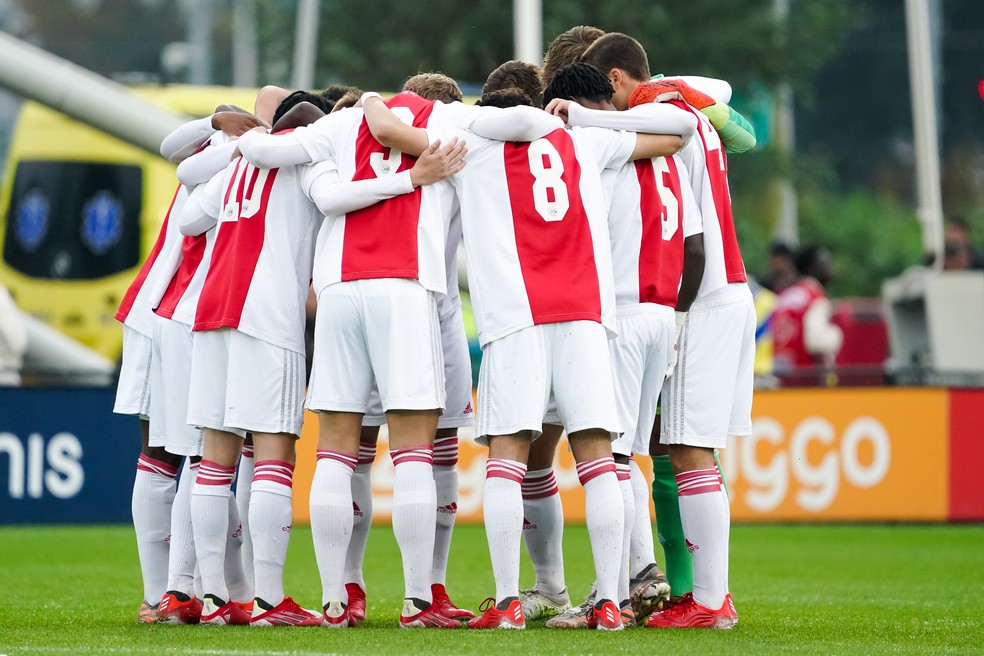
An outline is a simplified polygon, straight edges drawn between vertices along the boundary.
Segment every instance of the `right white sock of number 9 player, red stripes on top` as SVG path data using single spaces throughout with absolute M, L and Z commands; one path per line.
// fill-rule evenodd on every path
M 430 445 L 392 449 L 393 533 L 403 557 L 404 597 L 431 602 L 437 492 Z

